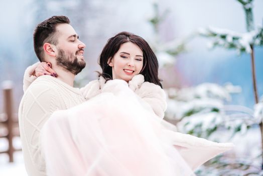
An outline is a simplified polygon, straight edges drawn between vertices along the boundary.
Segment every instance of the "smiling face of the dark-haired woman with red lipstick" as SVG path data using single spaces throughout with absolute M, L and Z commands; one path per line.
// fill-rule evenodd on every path
M 120 45 L 108 63 L 112 67 L 112 78 L 129 81 L 139 74 L 143 68 L 143 51 L 134 43 L 126 42 Z

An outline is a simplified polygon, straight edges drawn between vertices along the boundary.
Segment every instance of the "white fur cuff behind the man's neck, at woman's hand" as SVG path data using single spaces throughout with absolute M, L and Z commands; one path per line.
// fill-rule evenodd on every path
M 40 62 L 36 62 L 33 65 L 27 67 L 25 74 L 24 74 L 24 79 L 23 79 L 23 91 L 24 93 L 28 89 L 29 85 L 37 78 L 37 76 L 33 75 L 35 72 L 35 69 L 38 67 Z

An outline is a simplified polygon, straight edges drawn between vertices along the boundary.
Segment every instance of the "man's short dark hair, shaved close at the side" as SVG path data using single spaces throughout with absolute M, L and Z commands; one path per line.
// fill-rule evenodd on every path
M 43 62 L 44 60 L 44 43 L 50 43 L 56 45 L 58 43 L 56 31 L 56 26 L 59 24 L 69 24 L 70 21 L 66 16 L 53 16 L 36 27 L 33 40 L 34 40 L 34 50 L 38 59 Z

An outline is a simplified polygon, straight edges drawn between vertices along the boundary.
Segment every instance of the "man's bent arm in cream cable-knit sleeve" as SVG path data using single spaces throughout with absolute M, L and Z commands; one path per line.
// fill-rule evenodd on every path
M 36 81 L 29 87 L 20 106 L 23 150 L 28 150 L 27 159 L 44 171 L 45 162 L 39 144 L 40 130 L 54 111 L 62 109 L 60 95 L 48 82 Z

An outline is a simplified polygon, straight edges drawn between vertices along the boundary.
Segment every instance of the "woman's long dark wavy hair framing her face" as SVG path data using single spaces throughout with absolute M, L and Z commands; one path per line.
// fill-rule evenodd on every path
M 104 46 L 100 56 L 99 65 L 102 69 L 102 75 L 106 80 L 112 79 L 112 67 L 108 65 L 108 60 L 112 59 L 114 54 L 119 50 L 120 45 L 126 42 L 136 44 L 143 51 L 144 63 L 140 74 L 144 75 L 145 81 L 155 83 L 162 87 L 158 78 L 158 60 L 149 44 L 140 36 L 129 32 L 120 32 L 111 37 Z

